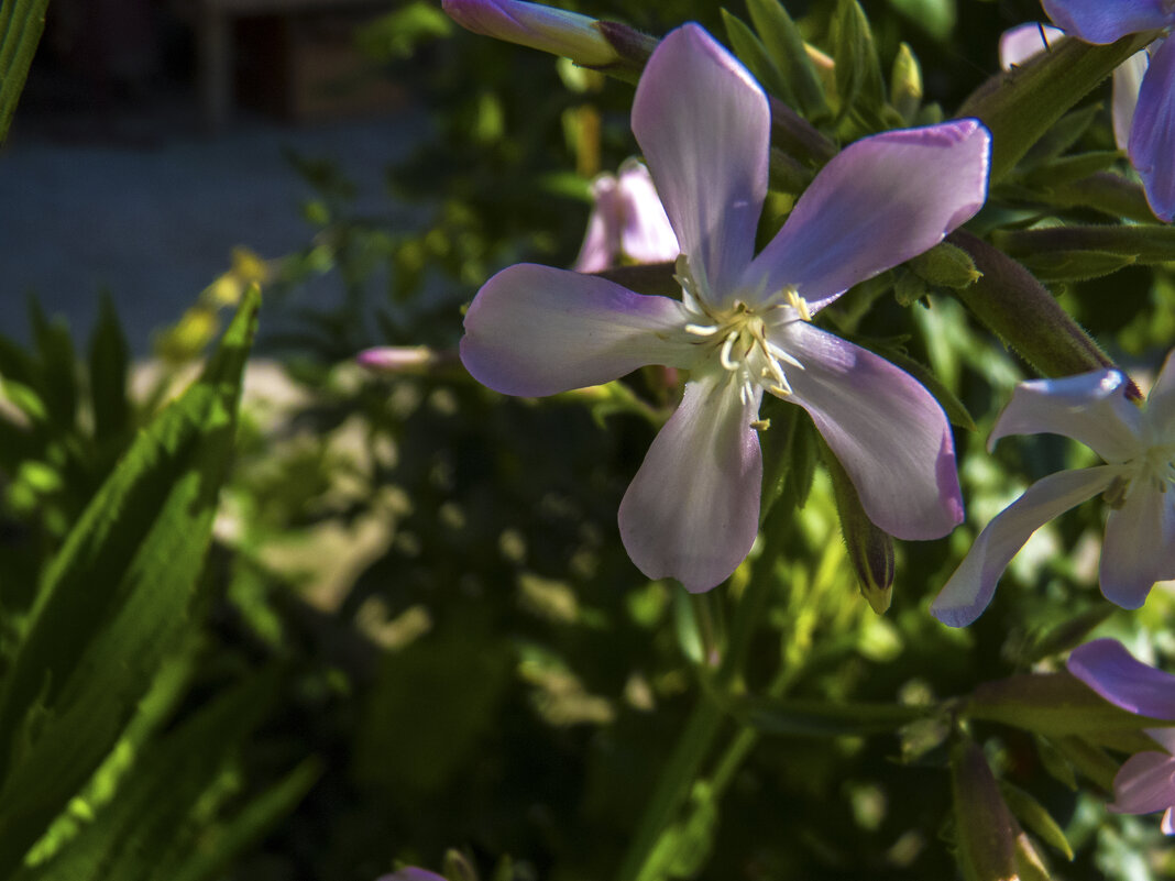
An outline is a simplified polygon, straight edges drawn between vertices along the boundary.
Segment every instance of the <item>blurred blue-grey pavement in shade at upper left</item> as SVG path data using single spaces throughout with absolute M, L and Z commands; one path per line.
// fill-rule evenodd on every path
M 315 125 L 237 112 L 207 135 L 183 94 L 133 112 L 24 110 L 0 147 L 0 332 L 27 341 L 34 292 L 83 343 L 105 289 L 137 354 L 229 268 L 234 246 L 271 258 L 310 241 L 301 206 L 314 193 L 283 150 L 334 160 L 356 208 L 382 215 L 384 172 L 427 125 L 409 105 Z

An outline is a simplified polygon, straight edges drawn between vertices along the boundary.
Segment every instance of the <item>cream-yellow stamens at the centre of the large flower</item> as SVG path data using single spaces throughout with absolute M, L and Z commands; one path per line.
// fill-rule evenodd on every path
M 730 309 L 714 309 L 690 274 L 684 255 L 678 258 L 677 270 L 682 300 L 691 318 L 685 331 L 698 337 L 698 344 L 707 347 L 718 363 L 734 375 L 739 401 L 751 403 L 756 385 L 777 397 L 791 395 L 785 365 L 797 370 L 804 365 L 768 336 L 772 329 L 793 321 L 812 321 L 807 303 L 795 289 L 786 288 L 767 297 L 761 307 L 752 308 L 737 300 Z

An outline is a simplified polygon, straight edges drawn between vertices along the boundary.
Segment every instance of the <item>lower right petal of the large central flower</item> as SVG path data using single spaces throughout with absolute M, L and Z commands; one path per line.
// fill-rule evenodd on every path
M 791 399 L 812 416 L 873 523 L 928 539 L 962 522 L 951 425 L 914 377 L 806 322 L 779 328 L 772 342 L 804 365 L 787 371 Z

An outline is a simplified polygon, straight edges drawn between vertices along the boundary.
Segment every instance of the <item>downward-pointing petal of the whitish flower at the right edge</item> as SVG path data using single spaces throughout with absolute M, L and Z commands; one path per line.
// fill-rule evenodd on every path
M 1099 578 L 1106 599 L 1122 608 L 1141 607 L 1155 581 L 1175 577 L 1175 498 L 1152 479 L 1135 477 L 1106 518 Z

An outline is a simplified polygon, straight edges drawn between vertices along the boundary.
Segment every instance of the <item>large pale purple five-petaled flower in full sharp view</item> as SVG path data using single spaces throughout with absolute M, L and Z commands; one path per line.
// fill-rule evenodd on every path
M 764 391 L 808 411 L 886 532 L 938 538 L 962 518 L 938 402 L 811 320 L 979 209 L 989 135 L 956 120 L 858 141 L 754 256 L 770 126 L 763 89 L 710 34 L 670 33 L 637 87 L 632 130 L 682 247 L 682 300 L 519 264 L 478 291 L 461 342 L 469 372 L 508 395 L 552 395 L 649 364 L 691 371 L 619 511 L 636 565 L 691 591 L 730 576 L 754 542 Z

